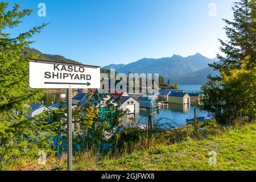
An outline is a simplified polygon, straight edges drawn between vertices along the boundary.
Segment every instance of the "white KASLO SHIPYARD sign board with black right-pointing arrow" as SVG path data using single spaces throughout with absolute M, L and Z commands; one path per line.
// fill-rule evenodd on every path
M 100 67 L 54 61 L 30 61 L 31 88 L 100 88 Z

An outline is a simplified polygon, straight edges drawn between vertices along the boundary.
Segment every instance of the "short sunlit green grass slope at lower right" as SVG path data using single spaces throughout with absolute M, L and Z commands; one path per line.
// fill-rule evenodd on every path
M 209 151 L 213 150 L 217 152 L 216 165 L 208 162 Z M 158 146 L 118 159 L 74 167 L 77 170 L 256 170 L 256 123 L 218 137 Z

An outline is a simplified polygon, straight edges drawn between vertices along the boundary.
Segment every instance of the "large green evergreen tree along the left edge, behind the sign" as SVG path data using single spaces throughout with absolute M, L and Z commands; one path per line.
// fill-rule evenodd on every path
M 9 9 L 9 3 L 0 2 L 0 169 L 17 158 L 36 157 L 40 150 L 52 152 L 50 143 L 54 125 L 46 125 L 46 115 L 28 119 L 27 104 L 42 96 L 43 90 L 31 89 L 28 85 L 28 65 L 30 57 L 23 55 L 24 47 L 32 42 L 28 39 L 42 28 L 12 38 L 5 33 L 17 27 L 22 19 L 31 15 L 32 10 L 20 10 L 20 4 Z M 47 135 L 42 133 L 47 131 Z M 32 158 L 33 159 L 33 158 Z

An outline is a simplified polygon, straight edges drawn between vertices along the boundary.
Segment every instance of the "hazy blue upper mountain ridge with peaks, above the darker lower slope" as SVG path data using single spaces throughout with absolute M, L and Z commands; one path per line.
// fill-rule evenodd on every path
M 162 57 L 160 59 L 143 58 L 130 64 L 110 64 L 105 69 L 113 68 L 118 73 L 159 73 L 163 77 L 184 76 L 208 67 L 214 60 L 204 57 L 200 53 L 182 57 Z

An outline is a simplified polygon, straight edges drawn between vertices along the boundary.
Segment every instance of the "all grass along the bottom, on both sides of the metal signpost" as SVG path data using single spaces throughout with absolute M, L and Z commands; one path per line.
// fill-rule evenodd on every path
M 222 133 L 222 134 L 221 134 Z M 220 131 L 201 140 L 187 139 L 176 144 L 154 144 L 141 147 L 133 154 L 117 158 L 93 151 L 73 156 L 74 170 L 256 170 L 256 123 Z M 209 164 L 209 152 L 217 153 L 217 163 Z M 100 159 L 101 158 L 101 159 Z M 99 160 L 100 159 L 100 160 Z M 67 155 L 48 158 L 46 166 L 37 160 L 17 159 L 3 170 L 66 170 Z

